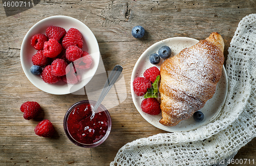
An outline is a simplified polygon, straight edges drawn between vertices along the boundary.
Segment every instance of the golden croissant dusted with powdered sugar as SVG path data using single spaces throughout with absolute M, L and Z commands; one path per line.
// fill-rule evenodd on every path
M 221 35 L 211 33 L 205 40 L 164 61 L 159 86 L 161 124 L 177 125 L 212 98 L 222 74 L 223 50 Z

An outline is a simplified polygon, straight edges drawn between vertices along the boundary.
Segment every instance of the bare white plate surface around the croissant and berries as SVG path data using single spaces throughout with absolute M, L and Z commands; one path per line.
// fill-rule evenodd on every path
M 157 65 L 152 65 L 148 59 L 151 53 L 158 53 L 158 49 L 163 46 L 167 45 L 172 49 L 172 56 L 175 56 L 177 53 L 179 53 L 182 49 L 186 47 L 190 47 L 191 45 L 194 45 L 198 43 L 198 40 L 196 39 L 191 39 L 191 38 L 186 38 L 186 37 L 175 37 L 175 38 L 169 38 L 162 40 L 160 42 L 157 42 L 153 44 L 152 46 L 148 47 L 140 56 L 138 59 L 137 63 L 134 66 L 133 72 L 132 72 L 132 77 L 131 77 L 131 91 L 132 91 L 132 98 L 134 105 L 138 109 L 139 113 L 141 116 L 149 123 L 154 125 L 157 128 L 160 128 L 165 131 L 170 131 L 170 132 L 179 132 L 179 131 L 189 131 L 189 130 L 194 130 L 202 125 L 206 125 L 207 123 L 211 122 L 214 120 L 218 114 L 220 113 L 225 99 L 227 95 L 227 75 L 226 75 L 226 70 L 223 66 L 222 68 L 222 77 L 220 81 L 217 84 L 216 92 L 214 96 L 206 102 L 204 107 L 200 109 L 203 114 L 204 114 L 204 120 L 202 122 L 196 122 L 193 117 L 190 117 L 187 120 L 181 121 L 178 125 L 176 126 L 164 126 L 161 123 L 159 123 L 159 120 L 162 118 L 161 114 L 153 116 L 146 114 L 142 112 L 141 110 L 141 101 L 144 99 L 143 96 L 139 97 L 135 95 L 133 91 L 133 80 L 136 77 L 143 76 L 143 72 L 152 67 L 156 66 L 160 69 L 161 64 L 163 63 L 163 59 L 161 59 L 160 63 Z

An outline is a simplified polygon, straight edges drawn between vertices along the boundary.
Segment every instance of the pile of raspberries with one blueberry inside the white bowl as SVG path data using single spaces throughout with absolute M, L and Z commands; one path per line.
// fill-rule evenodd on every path
M 81 73 L 91 67 L 92 58 L 82 50 L 82 35 L 75 28 L 66 32 L 62 27 L 49 26 L 46 34 L 33 35 L 30 44 L 37 50 L 32 57 L 30 71 L 40 74 L 48 84 L 60 80 L 76 84 L 81 79 Z

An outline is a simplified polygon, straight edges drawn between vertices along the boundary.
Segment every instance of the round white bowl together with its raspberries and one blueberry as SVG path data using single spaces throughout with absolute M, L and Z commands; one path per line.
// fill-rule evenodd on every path
M 68 16 L 52 16 L 34 24 L 20 49 L 20 61 L 30 82 L 57 95 L 86 86 L 99 59 L 99 46 L 92 31 Z

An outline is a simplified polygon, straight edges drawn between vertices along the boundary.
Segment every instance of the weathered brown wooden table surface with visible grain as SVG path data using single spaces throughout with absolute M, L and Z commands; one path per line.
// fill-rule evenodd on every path
M 10 0 L 12 2 L 14 0 Z M 135 108 L 130 90 L 133 67 L 142 52 L 152 44 L 171 37 L 205 39 L 218 32 L 229 43 L 239 21 L 256 12 L 255 1 L 110 1 L 110 0 L 33 0 L 30 8 L 0 4 L 0 165 L 109 165 L 126 143 L 157 133 L 165 133 L 146 122 Z M 99 147 L 86 149 L 72 144 L 63 130 L 63 117 L 85 95 L 52 95 L 37 89 L 26 77 L 20 63 L 23 38 L 37 21 L 53 15 L 74 17 L 94 33 L 105 70 L 123 66 L 126 99 L 110 108 L 112 131 Z M 142 25 L 142 39 L 131 30 Z M 19 107 L 37 101 L 43 112 L 39 118 L 25 120 Z M 39 137 L 34 127 L 49 119 L 56 130 L 51 139 Z M 234 159 L 256 162 L 256 139 L 241 148 Z M 230 164 L 236 165 L 236 164 Z M 248 162 L 244 165 L 252 165 Z

